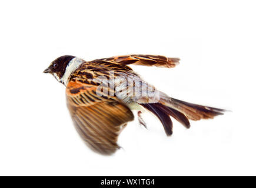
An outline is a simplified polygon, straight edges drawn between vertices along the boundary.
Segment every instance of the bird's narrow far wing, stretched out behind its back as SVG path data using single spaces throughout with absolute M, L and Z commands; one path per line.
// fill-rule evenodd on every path
M 164 68 L 174 68 L 179 63 L 179 58 L 167 58 L 161 55 L 123 55 L 100 60 L 121 65 L 144 65 Z

